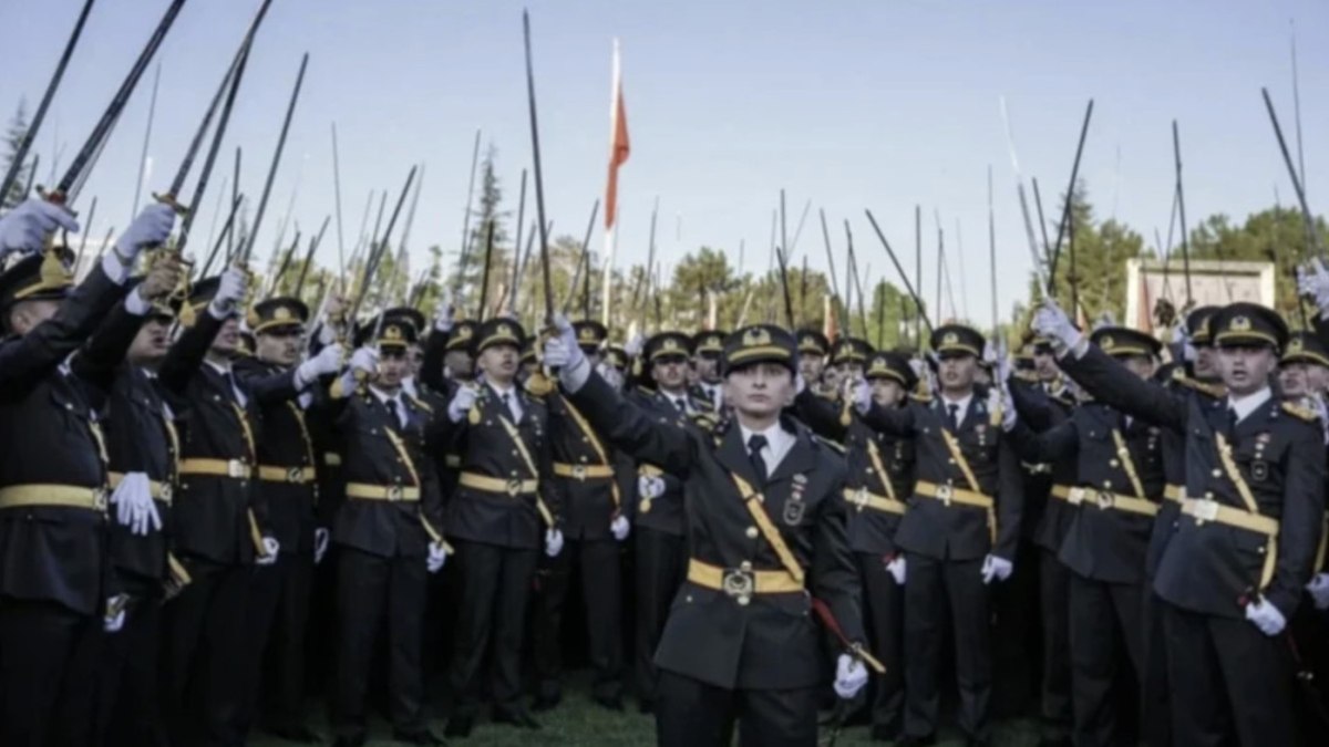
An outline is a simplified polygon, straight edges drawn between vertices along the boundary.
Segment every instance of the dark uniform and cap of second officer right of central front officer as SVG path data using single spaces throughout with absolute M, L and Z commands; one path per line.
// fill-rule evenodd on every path
M 979 358 L 983 338 L 962 326 L 937 327 L 937 355 Z M 960 412 L 940 395 L 904 409 L 872 408 L 873 428 L 912 437 L 918 481 L 896 532 L 905 552 L 905 735 L 932 738 L 941 706 L 941 651 L 950 609 L 960 687 L 960 727 L 971 742 L 990 739 L 990 589 L 987 556 L 1014 561 L 1019 542 L 1019 460 L 989 411 L 987 389 L 974 387 Z M 1018 573 L 1018 570 L 1017 570 Z

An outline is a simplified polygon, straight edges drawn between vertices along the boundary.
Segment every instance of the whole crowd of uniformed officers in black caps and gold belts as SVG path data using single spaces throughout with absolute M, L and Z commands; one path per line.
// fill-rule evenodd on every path
M 336 744 L 373 708 L 441 744 L 436 667 L 445 736 L 537 730 L 574 619 L 595 703 L 667 746 L 811 746 L 833 699 L 897 744 L 1030 703 L 1047 744 L 1329 728 L 1325 331 L 1045 303 L 1006 360 L 962 324 L 924 356 L 355 323 L 186 282 L 174 218 L 76 284 L 68 213 L 0 217 L 0 744 L 318 742 L 318 690 Z M 1322 267 L 1301 290 L 1329 311 Z

